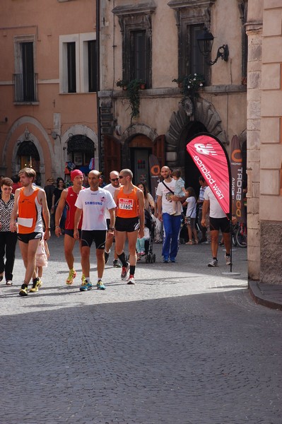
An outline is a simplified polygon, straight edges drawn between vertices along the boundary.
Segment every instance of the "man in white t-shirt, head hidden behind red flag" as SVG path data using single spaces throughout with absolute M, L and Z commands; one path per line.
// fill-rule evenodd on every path
M 226 265 L 230 265 L 230 220 L 228 220 L 223 208 L 218 203 L 216 196 L 210 187 L 206 187 L 204 192 L 204 203 L 201 215 L 201 225 L 206 227 L 206 213 L 209 209 L 209 228 L 211 231 L 211 254 L 213 259 L 208 266 L 218 266 L 218 234 L 221 230 L 223 234 L 223 242 L 226 249 L 225 260 Z

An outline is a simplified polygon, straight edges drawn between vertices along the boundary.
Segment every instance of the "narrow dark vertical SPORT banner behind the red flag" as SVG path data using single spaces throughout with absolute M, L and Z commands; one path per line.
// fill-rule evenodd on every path
M 242 167 L 242 151 L 240 141 L 237 136 L 233 136 L 231 140 L 231 198 L 232 213 L 236 216 L 239 223 L 246 222 L 244 193 L 243 193 L 243 167 Z

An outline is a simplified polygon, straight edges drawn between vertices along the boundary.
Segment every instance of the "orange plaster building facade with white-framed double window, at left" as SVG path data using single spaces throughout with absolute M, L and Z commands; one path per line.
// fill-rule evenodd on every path
M 99 163 L 95 1 L 1 0 L 0 174 Z M 93 59 L 92 59 L 93 58 Z

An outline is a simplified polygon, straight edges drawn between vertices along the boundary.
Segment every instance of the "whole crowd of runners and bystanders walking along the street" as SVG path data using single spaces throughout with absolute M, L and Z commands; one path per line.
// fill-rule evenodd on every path
M 64 179 L 47 179 L 42 189 L 35 184 L 32 168 L 20 170 L 17 178 L 1 177 L 0 183 L 0 281 L 13 284 L 16 243 L 25 266 L 20 296 L 35 293 L 42 285 L 43 268 L 47 266 L 47 241 L 54 230 L 64 235 L 64 255 L 69 275 L 66 285 L 74 283 L 74 247 L 81 253 L 81 291 L 93 288 L 90 280 L 90 249 L 95 242 L 97 260 L 96 288 L 105 290 L 102 281 L 105 264 L 114 243 L 113 266 L 121 268 L 122 281 L 134 285 L 137 261 L 146 255 L 146 240 L 151 237 L 149 219 L 162 228 L 163 263 L 174 263 L 180 245 L 180 228 L 187 231 L 187 245 L 211 242 L 212 260 L 208 266 L 218 266 L 218 235 L 222 232 L 225 262 L 230 264 L 230 221 L 223 212 L 204 177 L 199 177 L 199 198 L 193 187 L 185 188 L 180 170 L 163 166 L 163 181 L 158 184 L 155 199 L 143 182 L 133 184 L 129 169 L 110 172 L 110 184 L 105 184 L 98 170 L 84 175 L 71 171 L 71 185 Z M 55 185 L 56 184 L 56 185 Z M 196 228 L 196 223 L 198 228 Z M 198 238 L 199 229 L 201 238 Z M 124 251 L 128 242 L 128 255 Z M 5 261 L 6 259 L 6 261 Z M 29 288 L 30 281 L 32 282 Z M 29 288 L 29 290 L 28 290 Z

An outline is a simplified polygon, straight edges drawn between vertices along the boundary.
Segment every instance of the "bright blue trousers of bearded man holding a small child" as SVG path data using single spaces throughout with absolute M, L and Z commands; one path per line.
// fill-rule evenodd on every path
M 178 236 L 180 233 L 181 215 L 170 215 L 163 213 L 163 259 L 175 259 L 178 250 Z

